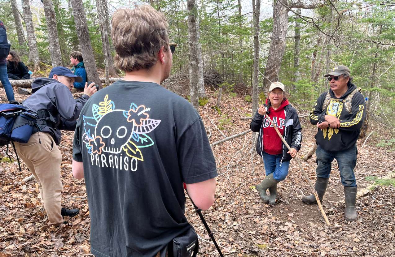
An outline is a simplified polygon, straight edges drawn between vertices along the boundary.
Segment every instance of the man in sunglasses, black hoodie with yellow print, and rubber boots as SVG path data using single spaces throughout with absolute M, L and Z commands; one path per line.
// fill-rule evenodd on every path
M 310 122 L 318 127 L 317 142 L 317 181 L 315 189 L 320 201 L 328 186 L 333 159 L 339 164 L 340 178 L 344 186 L 348 221 L 357 219 L 355 199 L 357 183 L 354 168 L 357 163 L 357 139 L 365 119 L 365 99 L 352 83 L 350 69 L 343 65 L 335 66 L 325 75 L 329 80 L 329 91 L 318 97 L 310 114 Z M 350 112 L 348 112 L 348 109 Z M 316 204 L 314 195 L 303 196 L 302 201 Z

